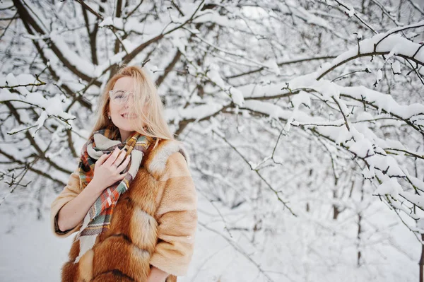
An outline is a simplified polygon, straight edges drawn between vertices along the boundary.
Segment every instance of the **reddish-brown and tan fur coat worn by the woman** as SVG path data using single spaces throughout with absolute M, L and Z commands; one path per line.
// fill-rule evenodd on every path
M 119 197 L 110 229 L 75 264 L 79 241 L 74 237 L 61 280 L 143 282 L 151 265 L 170 274 L 167 282 L 184 276 L 192 259 L 197 223 L 196 189 L 188 161 L 179 141 L 161 140 L 149 148 L 129 190 Z M 60 208 L 81 192 L 79 187 L 76 169 L 52 202 L 52 231 L 58 237 L 81 228 L 82 221 L 65 232 L 57 228 Z

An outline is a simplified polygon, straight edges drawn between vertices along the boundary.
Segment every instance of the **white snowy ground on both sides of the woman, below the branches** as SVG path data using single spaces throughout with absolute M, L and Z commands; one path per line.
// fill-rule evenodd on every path
M 206 213 L 213 212 L 209 205 L 199 196 L 199 222 L 210 219 L 206 216 Z M 6 211 L 8 208 L 7 203 L 0 206 L 0 220 L 4 223 L 0 230 L 0 281 L 59 281 L 60 267 L 66 260 L 73 235 L 66 239 L 52 235 L 47 206 L 40 221 L 35 220 L 35 213 L 28 211 L 10 216 Z M 389 218 L 391 211 L 383 208 L 387 212 L 383 209 L 368 220 L 392 221 L 393 218 Z M 226 216 L 240 218 L 243 213 L 242 210 L 235 211 Z M 273 281 L 418 282 L 420 246 L 401 224 L 390 229 L 391 242 L 382 243 L 387 240 L 377 236 L 375 245 L 367 246 L 363 253 L 368 266 L 357 268 L 355 248 L 338 240 L 331 242 L 324 233 L 311 232 L 307 223 L 301 223 L 293 216 L 283 216 L 278 221 L 283 222 L 281 233 L 274 235 L 278 239 L 256 247 L 243 235 L 233 232 L 233 240 L 228 241 L 199 226 L 189 273 L 179 281 L 266 281 L 257 266 L 229 243 L 237 242 L 245 246 L 245 251 L 259 262 L 260 268 Z M 219 221 L 208 224 L 208 228 L 227 234 Z

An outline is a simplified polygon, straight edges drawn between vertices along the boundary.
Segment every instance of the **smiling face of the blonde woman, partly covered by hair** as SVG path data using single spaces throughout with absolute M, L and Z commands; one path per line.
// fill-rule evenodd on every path
M 119 78 L 117 82 L 114 84 L 113 90 L 124 90 L 124 91 L 133 91 L 134 84 L 133 79 L 131 77 L 125 76 Z M 134 92 L 134 91 L 133 91 Z M 119 129 L 121 133 L 122 141 L 126 140 L 126 138 L 134 131 L 131 128 L 131 124 L 129 123 L 129 119 L 134 119 L 136 116 L 129 116 L 129 107 L 134 103 L 134 95 L 130 94 L 128 100 L 120 105 L 117 102 L 114 102 L 112 99 L 109 103 L 109 116 L 112 119 L 113 124 Z

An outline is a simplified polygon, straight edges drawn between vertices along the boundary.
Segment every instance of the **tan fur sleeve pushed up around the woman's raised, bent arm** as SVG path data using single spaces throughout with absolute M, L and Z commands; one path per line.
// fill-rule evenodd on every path
M 78 194 L 81 192 L 80 190 L 80 179 L 79 179 L 79 172 L 78 168 L 74 172 L 71 173 L 71 176 L 69 177 L 68 184 L 64 187 L 63 191 L 57 196 L 56 199 L 52 202 L 52 205 L 50 206 L 50 226 L 52 229 L 52 232 L 56 237 L 68 237 L 72 233 L 77 232 L 81 226 L 82 221 L 78 225 L 76 225 L 74 228 L 61 231 L 59 229 L 59 226 L 57 225 L 57 216 L 59 215 L 60 209 L 69 201 L 74 199 Z

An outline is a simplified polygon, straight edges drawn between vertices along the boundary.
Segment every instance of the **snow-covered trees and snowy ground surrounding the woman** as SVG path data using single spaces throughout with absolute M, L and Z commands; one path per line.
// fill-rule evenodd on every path
M 0 4 L 0 281 L 59 281 L 49 207 L 144 66 L 199 194 L 181 281 L 423 281 L 424 0 Z

